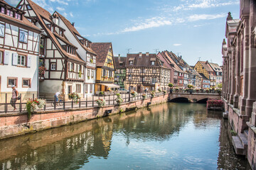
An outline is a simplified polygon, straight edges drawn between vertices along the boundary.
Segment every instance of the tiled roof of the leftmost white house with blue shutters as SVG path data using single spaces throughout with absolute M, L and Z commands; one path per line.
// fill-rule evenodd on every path
M 3 3 L 4 6 L 9 6 L 11 8 L 14 8 L 13 6 L 10 6 L 9 4 L 7 4 L 6 1 L 4 1 L 4 0 L 0 0 L 0 3 Z M 18 8 L 15 8 L 15 9 L 20 11 Z M 36 29 L 41 32 L 41 30 L 38 27 L 36 27 L 35 25 L 33 25 L 33 23 L 29 22 L 26 17 L 22 17 L 22 20 L 19 20 L 14 17 L 8 16 L 4 13 L 0 13 L 0 18 L 5 18 L 7 20 L 14 21 L 15 23 L 21 24 L 23 26 L 28 26 L 30 28 Z

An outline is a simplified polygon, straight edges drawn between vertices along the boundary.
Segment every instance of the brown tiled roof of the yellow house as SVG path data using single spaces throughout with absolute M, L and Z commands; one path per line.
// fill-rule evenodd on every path
M 106 61 L 107 52 L 112 47 L 111 42 L 92 42 L 92 50 L 96 52 L 96 65 L 102 67 Z

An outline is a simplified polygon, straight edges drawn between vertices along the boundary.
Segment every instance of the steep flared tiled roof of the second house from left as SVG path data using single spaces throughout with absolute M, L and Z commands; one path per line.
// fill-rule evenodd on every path
M 82 59 L 80 59 L 80 57 L 78 57 L 77 55 L 71 55 L 68 52 L 66 52 L 65 50 L 63 50 L 63 48 L 60 45 L 60 42 L 58 42 L 57 38 L 55 37 L 55 35 L 48 29 L 48 27 L 46 26 L 46 24 L 44 23 L 43 18 L 46 18 L 50 23 L 53 23 L 53 21 L 51 20 L 51 15 L 48 11 L 46 11 L 46 9 L 42 8 L 41 6 L 38 6 L 38 4 L 34 3 L 31 0 L 27 0 L 28 4 L 30 4 L 31 8 L 33 9 L 33 11 L 36 13 L 36 16 L 38 16 L 39 21 L 42 23 L 42 26 L 44 28 L 44 30 L 46 31 L 46 33 L 50 36 L 50 38 L 53 40 L 53 43 L 55 42 L 55 45 L 57 45 L 58 50 L 65 55 L 65 57 L 68 57 L 71 60 L 75 60 L 77 62 L 82 62 L 85 63 Z

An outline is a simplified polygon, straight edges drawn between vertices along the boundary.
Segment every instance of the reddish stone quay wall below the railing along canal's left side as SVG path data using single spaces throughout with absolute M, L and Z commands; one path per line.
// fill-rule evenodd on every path
M 120 113 L 121 111 L 136 110 L 138 108 L 146 107 L 149 102 L 151 103 L 150 106 L 165 103 L 168 96 L 168 94 L 164 94 L 161 96 L 155 96 L 154 98 L 146 98 L 145 100 L 122 103 L 120 106 L 110 105 L 102 108 L 91 107 L 58 111 L 37 111 L 32 114 L 32 117 L 29 120 L 26 113 L 0 115 L 0 139 L 79 123 L 109 114 Z M 111 112 L 107 113 L 107 111 L 110 110 Z

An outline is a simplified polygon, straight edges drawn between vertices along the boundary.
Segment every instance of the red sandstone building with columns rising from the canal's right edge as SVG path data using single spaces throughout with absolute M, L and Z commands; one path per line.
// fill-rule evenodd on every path
M 223 40 L 223 101 L 237 154 L 256 169 L 256 1 L 240 0 L 240 19 L 228 13 Z

